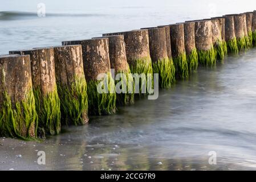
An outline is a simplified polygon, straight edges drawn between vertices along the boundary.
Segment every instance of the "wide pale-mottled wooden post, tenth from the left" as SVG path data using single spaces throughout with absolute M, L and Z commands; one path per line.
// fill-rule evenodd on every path
M 212 22 L 210 20 L 200 20 L 195 23 L 195 38 L 199 63 L 212 67 L 216 65 L 216 54 L 212 39 Z

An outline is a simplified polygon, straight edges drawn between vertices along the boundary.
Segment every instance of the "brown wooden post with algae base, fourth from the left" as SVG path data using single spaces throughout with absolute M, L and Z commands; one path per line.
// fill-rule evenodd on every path
M 89 113 L 92 115 L 115 113 L 115 82 L 110 70 L 108 38 L 62 42 L 63 46 L 77 44 L 82 45 Z

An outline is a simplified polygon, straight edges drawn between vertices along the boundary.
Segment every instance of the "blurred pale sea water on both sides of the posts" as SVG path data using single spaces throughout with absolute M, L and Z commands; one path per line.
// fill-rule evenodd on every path
M 5 1 L 0 10 L 0 53 L 58 45 L 103 32 L 251 11 L 254 1 Z M 211 9 L 212 10 L 212 9 Z M 23 13 L 10 13 L 22 11 Z M 25 13 L 29 12 L 29 13 Z M 33 14 L 34 12 L 34 14 Z M 11 15 L 9 15 L 11 14 Z M 1 15 L 0 15 L 1 17 Z M 2 16 L 3 17 L 3 16 Z M 140 100 L 116 115 L 91 118 L 44 142 L 0 139 L 0 169 L 256 169 L 256 49 L 229 56 L 216 69 L 200 68 L 189 80 Z M 46 165 L 36 161 L 46 152 Z M 216 151 L 217 165 L 208 152 Z M 22 158 L 17 157 L 22 155 Z

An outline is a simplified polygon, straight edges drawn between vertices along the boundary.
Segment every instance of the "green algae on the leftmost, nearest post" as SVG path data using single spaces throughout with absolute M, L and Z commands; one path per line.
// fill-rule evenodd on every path
M 6 92 L 1 97 L 3 104 L 0 110 L 0 137 L 36 138 L 38 115 L 32 89 L 27 93 L 24 101 L 16 104 L 11 104 L 11 98 Z

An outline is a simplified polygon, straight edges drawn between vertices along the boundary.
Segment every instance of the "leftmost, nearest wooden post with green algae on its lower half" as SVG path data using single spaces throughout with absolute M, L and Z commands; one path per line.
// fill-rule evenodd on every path
M 0 56 L 0 137 L 36 138 L 30 56 Z

